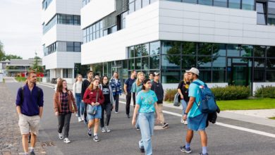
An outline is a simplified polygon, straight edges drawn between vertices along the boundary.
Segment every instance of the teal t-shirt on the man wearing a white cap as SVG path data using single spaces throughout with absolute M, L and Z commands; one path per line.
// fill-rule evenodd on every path
M 195 81 L 199 82 L 201 85 L 204 85 L 204 82 L 202 82 L 201 80 L 197 79 Z M 200 105 L 200 87 L 199 87 L 199 85 L 194 84 L 194 83 L 190 84 L 188 97 L 195 97 L 195 101 L 197 102 L 197 104 Z M 188 117 L 190 117 L 190 118 L 194 118 L 195 116 L 202 114 L 202 112 L 200 111 L 200 109 L 197 106 L 197 104 L 195 103 L 195 101 L 194 101 L 192 108 L 188 112 Z

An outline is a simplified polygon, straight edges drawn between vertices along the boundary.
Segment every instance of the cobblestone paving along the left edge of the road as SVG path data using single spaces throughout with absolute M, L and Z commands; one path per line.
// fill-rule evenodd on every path
M 0 83 L 0 98 L 0 154 L 23 154 L 18 115 L 13 103 L 15 97 L 11 97 L 11 92 L 3 83 Z M 40 142 L 36 144 L 35 153 L 46 154 Z

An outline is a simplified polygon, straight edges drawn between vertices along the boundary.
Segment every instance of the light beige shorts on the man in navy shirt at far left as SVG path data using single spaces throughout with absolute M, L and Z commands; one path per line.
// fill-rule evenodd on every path
M 40 126 L 40 117 L 37 116 L 25 116 L 21 114 L 19 116 L 18 125 L 20 128 L 21 135 L 29 134 L 29 132 L 38 135 Z

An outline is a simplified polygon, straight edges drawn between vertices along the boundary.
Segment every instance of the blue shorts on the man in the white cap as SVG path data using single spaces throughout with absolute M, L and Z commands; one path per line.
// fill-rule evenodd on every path
M 208 113 L 202 113 L 194 118 L 187 118 L 189 130 L 205 130 Z

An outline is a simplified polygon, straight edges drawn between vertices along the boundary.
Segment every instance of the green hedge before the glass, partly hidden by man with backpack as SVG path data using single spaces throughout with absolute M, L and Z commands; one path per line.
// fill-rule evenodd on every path
M 243 86 L 226 86 L 211 88 L 216 100 L 236 100 L 250 97 L 250 88 Z M 177 89 L 166 89 L 164 101 L 173 101 Z

